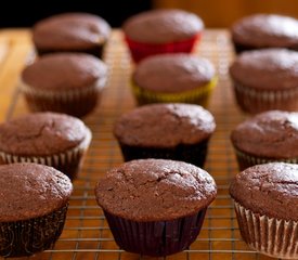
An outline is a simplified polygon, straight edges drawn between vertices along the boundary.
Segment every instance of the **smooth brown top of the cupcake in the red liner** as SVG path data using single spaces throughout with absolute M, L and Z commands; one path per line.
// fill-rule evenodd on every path
M 203 21 L 182 10 L 152 10 L 130 17 L 122 26 L 126 36 L 143 43 L 168 43 L 196 36 Z

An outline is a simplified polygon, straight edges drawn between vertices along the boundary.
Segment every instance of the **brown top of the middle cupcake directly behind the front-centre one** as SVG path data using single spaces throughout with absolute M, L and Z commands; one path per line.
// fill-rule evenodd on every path
M 127 145 L 174 147 L 206 140 L 215 128 L 212 115 L 198 105 L 153 104 L 122 115 L 114 134 Z

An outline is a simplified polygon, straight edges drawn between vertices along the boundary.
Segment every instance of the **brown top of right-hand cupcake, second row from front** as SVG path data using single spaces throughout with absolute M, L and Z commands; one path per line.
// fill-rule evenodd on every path
M 231 134 L 233 145 L 267 158 L 298 158 L 298 113 L 271 110 L 239 123 Z

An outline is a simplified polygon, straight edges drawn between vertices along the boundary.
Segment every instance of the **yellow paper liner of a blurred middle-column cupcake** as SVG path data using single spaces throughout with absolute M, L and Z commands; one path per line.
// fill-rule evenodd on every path
M 183 91 L 181 93 L 157 93 L 154 91 L 145 90 L 131 81 L 132 91 L 139 105 L 176 102 L 198 104 L 207 107 L 210 93 L 216 84 L 217 77 L 215 77 L 209 83 L 205 86 L 199 86 L 198 88 L 193 90 Z

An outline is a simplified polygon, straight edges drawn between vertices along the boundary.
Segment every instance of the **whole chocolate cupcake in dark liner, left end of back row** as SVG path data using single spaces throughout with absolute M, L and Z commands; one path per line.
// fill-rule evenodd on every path
M 33 41 L 40 55 L 85 52 L 101 57 L 109 34 L 109 25 L 94 14 L 64 13 L 38 22 Z

